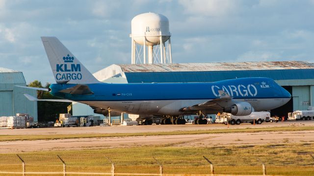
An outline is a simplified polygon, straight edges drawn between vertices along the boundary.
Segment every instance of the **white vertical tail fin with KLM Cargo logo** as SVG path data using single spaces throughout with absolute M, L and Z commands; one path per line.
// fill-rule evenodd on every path
M 56 37 L 41 37 L 41 40 L 56 83 L 100 83 Z

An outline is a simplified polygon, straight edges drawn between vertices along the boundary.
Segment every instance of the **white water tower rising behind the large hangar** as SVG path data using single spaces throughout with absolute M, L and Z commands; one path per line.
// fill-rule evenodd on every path
M 151 12 L 135 16 L 131 21 L 130 37 L 132 64 L 172 63 L 171 34 L 167 17 Z

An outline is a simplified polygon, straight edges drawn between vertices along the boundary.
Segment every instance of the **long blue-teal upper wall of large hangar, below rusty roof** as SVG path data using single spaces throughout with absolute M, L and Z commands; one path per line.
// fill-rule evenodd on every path
M 126 72 L 128 83 L 188 83 L 215 82 L 226 79 L 267 77 L 273 80 L 314 79 L 314 69 L 185 71 L 185 72 Z M 291 85 L 282 85 L 291 86 Z

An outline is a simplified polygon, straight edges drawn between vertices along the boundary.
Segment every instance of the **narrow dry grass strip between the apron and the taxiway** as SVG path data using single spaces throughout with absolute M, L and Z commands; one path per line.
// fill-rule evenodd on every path
M 14 140 L 52 140 L 91 137 L 125 137 L 125 136 L 150 136 L 150 135 L 178 135 L 178 134 L 204 134 L 204 133 L 227 133 L 227 132 L 275 132 L 275 131 L 302 131 L 314 130 L 312 127 L 270 127 L 270 128 L 246 128 L 224 130 L 197 130 L 197 131 L 174 131 L 174 132 L 145 132 L 145 133 L 84 133 L 84 134 L 47 134 L 47 135 L 0 135 L 0 141 Z

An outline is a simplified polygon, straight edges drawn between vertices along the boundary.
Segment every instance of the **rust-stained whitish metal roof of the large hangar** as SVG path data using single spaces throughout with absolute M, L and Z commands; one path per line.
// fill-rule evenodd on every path
M 183 63 L 183 64 L 119 64 L 123 72 L 177 72 L 228 70 L 314 69 L 314 63 L 304 61 Z

